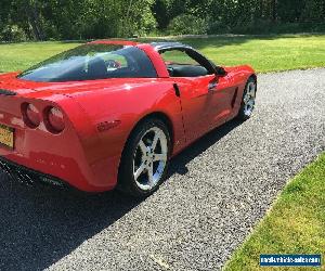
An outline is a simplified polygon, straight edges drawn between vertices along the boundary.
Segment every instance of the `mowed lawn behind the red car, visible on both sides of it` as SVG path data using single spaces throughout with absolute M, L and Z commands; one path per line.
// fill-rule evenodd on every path
M 172 40 L 176 40 L 172 38 Z M 183 38 L 220 65 L 249 64 L 259 73 L 325 66 L 325 35 Z M 78 43 L 0 44 L 0 72 L 23 70 Z

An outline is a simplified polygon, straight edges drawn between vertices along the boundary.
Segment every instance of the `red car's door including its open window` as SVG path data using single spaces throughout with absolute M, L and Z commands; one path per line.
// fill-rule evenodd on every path
M 217 76 L 211 63 L 192 49 L 170 49 L 160 55 L 180 92 L 186 140 L 192 142 L 231 113 L 232 89 L 227 78 Z

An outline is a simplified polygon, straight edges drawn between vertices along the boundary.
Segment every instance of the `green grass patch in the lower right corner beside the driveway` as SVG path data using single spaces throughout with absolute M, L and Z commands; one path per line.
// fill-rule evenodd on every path
M 260 268 L 260 254 L 322 254 L 325 257 L 325 153 L 286 185 L 224 269 L 292 270 Z

